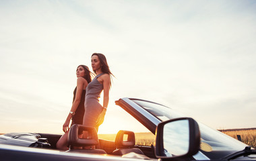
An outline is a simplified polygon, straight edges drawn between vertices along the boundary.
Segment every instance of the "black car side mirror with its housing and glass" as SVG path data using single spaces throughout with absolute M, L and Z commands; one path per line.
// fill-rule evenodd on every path
M 197 154 L 199 148 L 199 126 L 192 118 L 170 119 L 156 127 L 156 158 L 187 158 Z

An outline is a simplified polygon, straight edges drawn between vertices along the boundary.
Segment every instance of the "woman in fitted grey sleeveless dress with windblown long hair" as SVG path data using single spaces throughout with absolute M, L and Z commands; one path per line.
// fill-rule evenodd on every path
M 108 107 L 109 89 L 111 86 L 110 72 L 106 57 L 100 53 L 94 53 L 91 57 L 92 70 L 96 73 L 95 78 L 86 88 L 86 101 L 84 104 L 84 125 L 94 126 L 98 131 L 98 126 L 103 123 L 106 109 Z M 103 107 L 98 98 L 103 91 Z M 84 137 L 85 134 L 84 134 Z

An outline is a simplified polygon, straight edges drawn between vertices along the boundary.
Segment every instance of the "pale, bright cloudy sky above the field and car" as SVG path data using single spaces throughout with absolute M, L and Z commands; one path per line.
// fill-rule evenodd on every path
M 256 127 L 256 1 L 0 0 L 0 22 L 0 133 L 63 133 L 94 52 L 115 75 L 101 133 L 128 119 L 123 97 Z

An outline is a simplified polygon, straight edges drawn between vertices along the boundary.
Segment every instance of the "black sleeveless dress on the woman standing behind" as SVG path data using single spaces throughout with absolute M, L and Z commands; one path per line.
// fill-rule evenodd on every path
M 75 101 L 76 91 L 77 91 L 77 87 L 75 87 L 75 90 L 73 91 L 73 101 Z M 71 125 L 73 125 L 73 124 L 82 125 L 83 124 L 85 96 L 86 96 L 86 89 L 84 89 L 82 92 L 81 100 L 80 100 L 80 103 L 79 103 L 77 109 L 75 110 L 75 115 L 73 115 L 73 117 L 72 117 Z

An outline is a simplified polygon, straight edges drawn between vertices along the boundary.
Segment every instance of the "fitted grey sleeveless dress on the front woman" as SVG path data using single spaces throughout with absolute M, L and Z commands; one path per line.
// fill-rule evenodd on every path
M 100 73 L 95 76 L 92 82 L 90 82 L 86 87 L 86 100 L 84 103 L 84 125 L 96 127 L 96 121 L 102 112 L 103 107 L 100 105 L 98 98 L 100 97 L 100 93 L 103 90 L 103 85 L 100 84 L 97 80 L 97 78 L 102 76 L 102 74 L 105 73 Z M 98 127 L 96 127 L 96 129 L 98 131 Z

